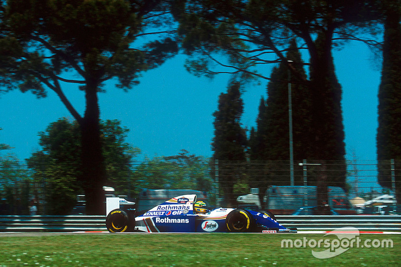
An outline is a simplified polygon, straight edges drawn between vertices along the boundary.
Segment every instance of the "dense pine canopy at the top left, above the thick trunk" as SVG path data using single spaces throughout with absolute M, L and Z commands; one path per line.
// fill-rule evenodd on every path
M 44 92 L 44 86 L 57 86 L 60 78 L 55 75 L 72 70 L 86 82 L 98 79 L 97 86 L 117 77 L 119 86 L 128 89 L 138 82 L 140 72 L 177 53 L 176 43 L 166 37 L 137 49 L 131 47 L 149 26 L 169 20 L 162 15 L 167 8 L 162 1 L 147 5 L 125 0 L 38 0 L 29 4 L 13 0 L 5 8 L 0 45 L 6 56 L 3 62 L 7 59 L 9 64 L 2 67 L 25 90 Z M 150 12 L 157 15 L 148 19 Z M 6 49 L 10 43 L 14 46 Z

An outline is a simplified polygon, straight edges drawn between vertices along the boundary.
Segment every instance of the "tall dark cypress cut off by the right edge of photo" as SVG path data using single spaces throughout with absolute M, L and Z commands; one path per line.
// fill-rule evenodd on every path
M 391 187 L 390 159 L 395 160 L 396 198 L 401 201 L 399 163 L 401 161 L 401 12 L 399 4 L 386 1 L 383 67 L 378 93 L 376 136 L 378 182 Z

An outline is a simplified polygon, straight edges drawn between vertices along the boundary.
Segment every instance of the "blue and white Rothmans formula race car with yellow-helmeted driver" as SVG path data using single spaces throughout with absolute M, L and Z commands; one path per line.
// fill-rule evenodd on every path
M 109 232 L 297 232 L 278 223 L 272 214 L 247 209 L 216 208 L 197 213 L 196 195 L 181 195 L 134 217 L 134 202 L 119 198 L 119 207 L 106 218 Z

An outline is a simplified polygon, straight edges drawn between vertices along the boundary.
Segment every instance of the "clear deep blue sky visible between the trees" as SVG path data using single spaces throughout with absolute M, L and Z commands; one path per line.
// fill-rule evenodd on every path
M 333 51 L 337 78 L 343 90 L 343 119 L 347 159 L 352 152 L 358 160 L 376 159 L 377 92 L 381 62 L 374 59 L 362 43 L 347 43 Z M 197 78 L 183 67 L 185 57 L 177 56 L 161 67 L 143 73 L 140 84 L 127 93 L 108 83 L 106 93 L 99 94 L 101 118 L 117 119 L 130 129 L 127 142 L 145 155 L 176 155 L 181 149 L 212 156 L 213 112 L 218 97 L 227 89 L 229 76 L 215 79 Z M 308 59 L 304 59 L 308 61 Z M 271 66 L 273 67 L 273 65 Z M 270 75 L 270 72 L 265 74 Z M 249 84 L 243 95 L 243 124 L 255 126 L 261 96 L 266 98 L 267 81 Z M 76 109 L 83 114 L 84 95 L 76 87 L 64 85 L 64 91 Z M 72 117 L 51 91 L 37 99 L 31 93 L 12 91 L 0 95 L 0 143 L 14 147 L 24 160 L 40 149 L 38 132 L 61 117 Z

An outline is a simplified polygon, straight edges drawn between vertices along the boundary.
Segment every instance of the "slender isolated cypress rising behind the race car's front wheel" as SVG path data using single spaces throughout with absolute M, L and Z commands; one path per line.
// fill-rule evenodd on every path
M 227 93 L 219 97 L 215 117 L 215 137 L 212 149 L 214 159 L 219 161 L 219 182 L 228 205 L 235 205 L 234 184 L 240 178 L 241 171 L 236 161 L 246 160 L 246 131 L 242 128 L 241 116 L 244 110 L 241 98 L 241 85 L 233 82 Z

